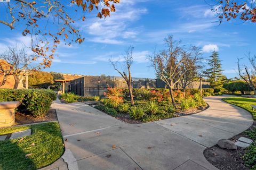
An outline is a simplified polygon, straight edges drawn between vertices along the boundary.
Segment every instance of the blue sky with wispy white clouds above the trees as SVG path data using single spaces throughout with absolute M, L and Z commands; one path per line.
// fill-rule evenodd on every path
M 218 50 L 224 74 L 228 78 L 236 77 L 237 58 L 244 57 L 247 52 L 256 54 L 255 23 L 229 21 L 219 25 L 217 20 L 204 0 L 121 0 L 110 18 L 99 19 L 91 15 L 85 22 L 78 22 L 85 42 L 71 47 L 62 45 L 57 51 L 59 57 L 45 71 L 118 75 L 108 58 L 122 57 L 124 49 L 132 45 L 133 77 L 155 78 L 147 55 L 155 48 L 164 49 L 163 39 L 173 35 L 183 44 L 201 47 L 205 58 L 212 50 Z M 11 31 L 3 24 L 0 24 L 0 37 L 0 51 L 6 45 L 30 43 L 21 32 Z

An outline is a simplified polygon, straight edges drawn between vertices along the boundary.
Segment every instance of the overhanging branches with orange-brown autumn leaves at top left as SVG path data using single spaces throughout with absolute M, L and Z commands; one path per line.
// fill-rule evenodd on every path
M 73 43 L 81 44 L 85 40 L 75 24 L 79 20 L 86 20 L 85 13 L 97 10 L 98 18 L 102 16 L 106 18 L 110 16 L 110 12 L 116 11 L 115 4 L 119 3 L 119 0 L 72 0 L 69 2 L 73 6 L 75 16 L 72 11 L 70 12 L 66 2 L 12 0 L 6 8 L 7 14 L 0 16 L 0 23 L 11 30 L 19 27 L 17 30 L 23 30 L 22 36 L 29 35 L 31 50 L 36 55 L 33 60 L 42 57 L 41 65 L 50 67 L 57 47 L 62 41 L 70 46 Z

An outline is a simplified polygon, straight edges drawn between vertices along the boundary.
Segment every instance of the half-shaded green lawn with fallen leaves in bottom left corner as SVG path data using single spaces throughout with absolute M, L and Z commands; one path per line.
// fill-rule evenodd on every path
M 63 152 L 58 122 L 0 129 L 0 135 L 30 129 L 21 139 L 0 141 L 0 169 L 38 169 L 52 164 Z M 27 154 L 31 154 L 26 157 Z

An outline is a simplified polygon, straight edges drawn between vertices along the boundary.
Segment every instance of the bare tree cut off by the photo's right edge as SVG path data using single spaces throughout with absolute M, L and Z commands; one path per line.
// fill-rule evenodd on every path
M 238 74 L 246 83 L 250 84 L 251 88 L 256 94 L 256 55 L 251 56 L 251 54 L 247 54 L 246 57 L 248 58 L 251 68 L 248 68 L 247 65 L 241 66 L 241 60 L 237 59 L 237 66 L 238 66 Z

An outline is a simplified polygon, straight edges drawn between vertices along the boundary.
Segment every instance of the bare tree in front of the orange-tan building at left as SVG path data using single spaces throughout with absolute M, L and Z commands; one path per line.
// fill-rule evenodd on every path
M 14 89 L 18 88 L 21 78 L 27 74 L 26 69 L 30 64 L 30 57 L 25 48 L 9 47 L 4 53 L 0 54 L 0 71 L 3 73 L 1 86 L 6 82 L 9 75 L 13 75 L 15 83 Z

